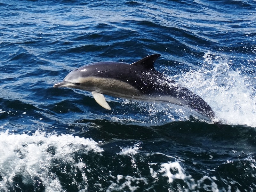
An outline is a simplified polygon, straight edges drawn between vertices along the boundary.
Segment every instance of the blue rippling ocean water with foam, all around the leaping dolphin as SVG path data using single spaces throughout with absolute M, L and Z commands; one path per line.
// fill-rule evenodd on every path
M 253 0 L 0 0 L 0 191 L 256 191 L 255 20 Z M 155 53 L 223 125 L 53 88 Z

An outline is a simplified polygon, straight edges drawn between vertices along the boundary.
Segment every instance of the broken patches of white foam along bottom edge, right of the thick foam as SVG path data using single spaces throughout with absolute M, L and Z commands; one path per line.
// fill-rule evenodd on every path
M 148 154 L 150 155 L 150 154 Z M 153 154 L 151 154 L 153 155 Z M 163 154 L 164 155 L 164 154 Z M 173 160 L 172 156 L 170 156 Z M 167 182 L 170 185 L 166 185 L 166 187 L 170 187 L 168 190 L 173 191 L 174 186 L 172 183 L 174 181 L 177 181 L 180 183 L 180 186 L 182 188 L 179 188 L 177 190 L 180 191 L 212 191 L 212 192 L 219 192 L 219 191 L 228 191 L 230 186 L 223 186 L 221 184 L 220 180 L 224 180 L 222 178 L 216 178 L 216 176 L 209 176 L 209 173 L 205 172 L 205 175 L 202 175 L 201 178 L 198 178 L 198 175 L 196 175 L 196 179 L 193 178 L 190 174 L 186 172 L 186 169 L 182 167 L 182 163 L 179 160 L 174 160 L 173 162 L 167 162 L 167 163 L 150 163 L 150 174 L 151 177 L 154 178 L 153 180 L 148 179 L 147 177 L 144 177 L 141 174 L 137 174 L 136 176 L 130 176 L 130 175 L 121 175 L 118 174 L 116 176 L 112 175 L 112 172 L 109 171 L 109 176 L 114 179 L 111 184 L 109 185 L 108 189 L 106 191 L 136 191 L 139 186 L 145 186 L 144 190 L 148 191 L 154 186 L 155 184 L 159 182 L 159 180 L 162 180 L 162 178 L 167 178 Z M 139 172 L 138 172 L 139 173 Z M 199 173 L 201 174 L 201 173 Z M 149 180 L 151 182 L 149 182 Z M 225 180 L 224 183 L 230 183 L 234 185 L 237 183 L 234 180 Z M 218 186 L 218 183 L 220 183 L 220 186 Z M 234 190 L 239 191 L 238 188 L 235 186 Z

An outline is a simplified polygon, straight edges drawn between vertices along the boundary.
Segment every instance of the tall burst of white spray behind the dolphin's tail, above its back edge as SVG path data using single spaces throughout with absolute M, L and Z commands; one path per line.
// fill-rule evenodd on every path
M 175 78 L 184 87 L 202 97 L 227 124 L 256 126 L 256 95 L 253 77 L 232 69 L 227 56 L 210 52 L 204 55 L 204 65 Z M 255 77 L 254 77 L 255 78 Z

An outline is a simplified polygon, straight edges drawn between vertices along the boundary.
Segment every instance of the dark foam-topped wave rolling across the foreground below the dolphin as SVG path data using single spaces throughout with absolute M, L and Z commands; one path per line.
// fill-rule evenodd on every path
M 166 138 L 156 142 L 165 145 Z M 0 133 L 0 190 L 241 190 L 244 186 L 237 181 L 247 185 L 243 178 L 245 172 L 255 174 L 247 170 L 255 166 L 253 154 L 236 156 L 233 150 L 234 158 L 229 159 L 225 153 L 219 156 L 213 149 L 195 147 L 196 151 L 189 155 L 193 158 L 186 158 L 187 155 L 184 158 L 181 154 L 168 155 L 168 150 L 149 152 L 149 143 L 147 140 L 145 143 L 127 140 L 126 144 L 124 140 L 96 142 L 70 134 L 39 131 L 12 134 L 7 130 Z M 179 149 L 182 154 L 191 151 L 182 146 Z M 156 148 L 159 149 L 159 145 Z M 246 167 L 244 172 L 238 168 L 241 164 Z M 204 166 L 207 166 L 205 171 Z M 230 176 L 232 170 L 236 170 L 239 178 Z M 255 187 L 248 182 L 247 189 Z

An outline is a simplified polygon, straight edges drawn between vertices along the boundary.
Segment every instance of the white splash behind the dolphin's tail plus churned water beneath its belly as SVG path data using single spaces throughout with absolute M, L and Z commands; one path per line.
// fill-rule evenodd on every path
M 243 68 L 234 69 L 233 62 L 227 55 L 207 52 L 200 69 L 191 69 L 169 78 L 205 100 L 216 114 L 213 122 L 256 127 L 256 77 L 254 74 L 245 75 Z M 250 66 L 252 63 L 256 60 L 248 60 Z M 113 112 L 112 120 L 159 125 L 170 121 L 188 121 L 192 115 L 196 120 L 209 122 L 195 110 L 171 103 L 122 100 L 121 105 L 121 115 Z M 124 118 L 128 114 L 129 118 Z

